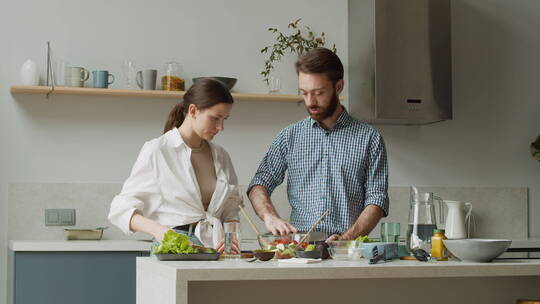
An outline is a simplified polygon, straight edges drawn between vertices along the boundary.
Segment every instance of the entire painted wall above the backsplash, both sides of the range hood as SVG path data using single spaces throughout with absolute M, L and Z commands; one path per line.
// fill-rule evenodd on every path
M 390 183 L 528 186 L 530 231 L 540 237 L 540 164 L 528 149 L 540 133 L 540 2 L 452 3 L 454 120 L 379 126 L 389 151 Z M 345 1 L 6 2 L 0 10 L 0 269 L 5 269 L 8 182 L 121 182 L 142 143 L 159 134 L 172 105 L 13 98 L 9 86 L 18 82 L 22 62 L 33 58 L 44 67 L 46 40 L 58 55 L 90 70 L 105 68 L 120 76 L 126 57 L 145 68 L 176 57 L 188 78 L 232 75 L 240 79 L 237 91 L 264 92 L 258 51 L 272 38 L 265 29 L 296 17 L 324 30 L 347 63 Z M 285 63 L 284 90 L 294 92 L 292 60 Z M 235 106 L 216 141 L 231 153 L 241 183 L 249 181 L 279 129 L 304 116 L 293 104 Z

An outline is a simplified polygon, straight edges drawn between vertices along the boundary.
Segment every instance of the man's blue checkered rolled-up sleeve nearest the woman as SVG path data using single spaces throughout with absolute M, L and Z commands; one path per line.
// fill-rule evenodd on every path
M 285 171 L 287 170 L 286 132 L 287 129 L 282 130 L 270 145 L 247 188 L 246 192 L 248 195 L 251 188 L 255 185 L 263 186 L 268 191 L 268 194 L 271 195 L 274 189 L 283 182 Z

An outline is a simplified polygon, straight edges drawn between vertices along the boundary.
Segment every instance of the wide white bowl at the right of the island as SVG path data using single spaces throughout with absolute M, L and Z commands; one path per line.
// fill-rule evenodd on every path
M 490 262 L 503 254 L 512 241 L 497 239 L 443 240 L 457 258 L 466 262 Z

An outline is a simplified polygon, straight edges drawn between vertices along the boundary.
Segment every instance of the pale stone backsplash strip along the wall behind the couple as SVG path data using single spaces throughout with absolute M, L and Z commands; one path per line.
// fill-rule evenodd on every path
M 120 191 L 121 184 L 98 183 L 12 183 L 9 184 L 8 198 L 8 235 L 9 239 L 63 239 L 63 229 L 73 226 L 45 226 L 45 208 L 75 208 L 76 226 L 95 228 L 109 226 L 105 230 L 104 239 L 149 239 L 150 237 L 135 233 L 124 235 L 107 220 L 112 198 Z M 240 190 L 244 192 L 245 186 Z M 521 187 L 429 187 L 420 191 L 432 191 L 449 200 L 462 200 L 473 204 L 477 229 L 474 237 L 526 239 L 528 236 L 527 221 L 527 188 Z M 390 215 L 382 221 L 401 223 L 402 237 L 405 236 L 409 213 L 409 188 L 390 187 Z M 281 185 L 272 200 L 278 213 L 288 218 L 290 206 L 287 201 L 286 187 Z M 262 221 L 255 215 L 249 200 L 244 193 L 244 204 L 260 231 L 266 231 Z M 253 239 L 255 233 L 240 215 L 242 238 Z M 378 227 L 371 236 L 378 235 Z

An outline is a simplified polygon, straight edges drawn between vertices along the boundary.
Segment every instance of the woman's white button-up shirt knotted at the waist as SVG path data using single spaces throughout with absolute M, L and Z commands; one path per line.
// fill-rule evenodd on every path
M 205 246 L 215 247 L 223 238 L 222 223 L 238 220 L 242 197 L 229 154 L 209 144 L 217 180 L 207 211 L 191 164 L 191 148 L 174 128 L 144 144 L 122 191 L 112 200 L 109 221 L 126 234 L 132 233 L 129 224 L 135 210 L 168 227 L 198 222 L 195 235 Z

